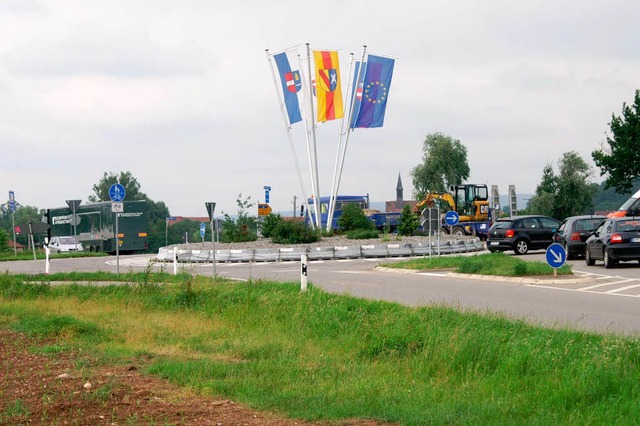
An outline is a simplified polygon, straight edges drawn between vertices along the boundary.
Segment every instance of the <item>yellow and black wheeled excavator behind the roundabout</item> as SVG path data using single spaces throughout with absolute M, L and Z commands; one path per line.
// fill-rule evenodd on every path
M 489 208 L 487 185 L 456 185 L 452 186 L 450 190 L 451 193 L 428 193 L 422 201 L 416 204 L 416 209 L 420 213 L 426 208 L 436 206 L 445 212 L 453 210 L 460 217 L 458 224 L 454 227 L 449 227 L 444 223 L 443 219 L 443 231 L 451 232 L 453 235 L 476 235 L 482 240 L 486 239 L 491 227 L 491 209 Z

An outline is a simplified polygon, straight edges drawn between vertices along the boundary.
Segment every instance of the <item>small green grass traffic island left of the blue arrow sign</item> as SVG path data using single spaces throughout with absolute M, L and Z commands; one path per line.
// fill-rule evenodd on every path
M 522 277 L 527 275 L 553 275 L 553 268 L 545 262 L 528 262 L 504 253 L 478 254 L 473 256 L 425 257 L 387 263 L 382 266 L 400 269 L 451 269 L 462 274 L 500 275 Z M 557 270 L 558 275 L 572 275 L 571 265 L 565 264 Z

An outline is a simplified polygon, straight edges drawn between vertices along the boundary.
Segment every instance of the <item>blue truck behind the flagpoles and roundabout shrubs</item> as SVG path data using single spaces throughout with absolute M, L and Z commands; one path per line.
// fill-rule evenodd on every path
M 317 203 L 320 207 L 320 220 L 322 223 L 322 229 L 326 229 L 327 220 L 329 219 L 329 199 L 330 197 L 320 197 L 319 203 Z M 311 219 L 313 223 L 316 223 L 316 202 L 314 198 L 308 199 L 309 203 L 309 214 L 305 215 L 305 222 L 309 224 L 309 220 Z M 336 230 L 339 228 L 338 219 L 342 215 L 342 211 L 346 204 L 357 204 L 360 209 L 364 212 L 365 216 L 371 220 L 376 228 L 384 229 L 385 226 L 388 226 L 390 230 L 394 230 L 398 224 L 400 223 L 401 213 L 385 213 L 380 212 L 378 210 L 372 210 L 370 208 L 369 203 L 369 194 L 367 195 L 338 195 L 335 199 L 336 207 L 333 212 L 333 220 L 331 221 L 331 229 Z M 304 215 L 304 212 L 302 212 Z

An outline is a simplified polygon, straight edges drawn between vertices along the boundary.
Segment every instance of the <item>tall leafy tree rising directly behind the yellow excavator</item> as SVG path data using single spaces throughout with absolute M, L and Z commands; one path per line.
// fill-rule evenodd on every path
M 422 153 L 422 164 L 411 170 L 417 199 L 428 192 L 445 192 L 469 177 L 467 148 L 459 140 L 442 133 L 429 134 Z

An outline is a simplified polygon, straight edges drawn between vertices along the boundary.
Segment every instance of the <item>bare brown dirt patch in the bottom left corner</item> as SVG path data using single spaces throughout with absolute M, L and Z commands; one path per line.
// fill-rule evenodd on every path
M 99 365 L 75 350 L 0 330 L 0 425 L 382 425 L 305 422 L 204 397 L 142 365 Z

